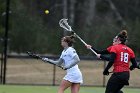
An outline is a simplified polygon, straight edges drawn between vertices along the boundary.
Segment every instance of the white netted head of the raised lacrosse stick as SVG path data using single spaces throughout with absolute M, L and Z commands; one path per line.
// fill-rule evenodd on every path
M 59 21 L 59 25 L 60 27 L 64 28 L 66 31 L 70 31 L 70 32 L 73 32 L 71 26 L 68 24 L 68 19 L 66 18 L 63 18 Z

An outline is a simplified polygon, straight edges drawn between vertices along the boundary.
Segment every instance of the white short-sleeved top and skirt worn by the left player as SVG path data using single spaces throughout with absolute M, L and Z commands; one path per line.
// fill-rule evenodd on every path
M 72 59 L 76 55 L 77 53 L 75 49 L 72 47 L 68 47 L 66 50 L 62 51 L 60 58 L 64 60 L 64 66 L 67 66 L 71 64 Z M 72 83 L 83 83 L 82 74 L 78 65 L 76 64 L 70 69 L 67 69 L 67 74 L 65 75 L 63 79 L 68 80 Z

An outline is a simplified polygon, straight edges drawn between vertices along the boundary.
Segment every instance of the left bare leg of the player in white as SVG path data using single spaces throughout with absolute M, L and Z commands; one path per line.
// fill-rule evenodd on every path
M 64 93 L 64 91 L 71 86 L 71 82 L 67 81 L 67 80 L 62 80 L 59 89 L 58 89 L 58 93 Z

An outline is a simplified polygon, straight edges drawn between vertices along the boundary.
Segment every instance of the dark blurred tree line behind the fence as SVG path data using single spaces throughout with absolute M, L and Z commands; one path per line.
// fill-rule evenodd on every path
M 0 0 L 0 39 L 5 31 L 5 0 Z M 74 31 L 88 44 L 104 49 L 122 29 L 128 31 L 128 46 L 140 54 L 139 0 L 11 0 L 9 20 L 9 52 L 27 50 L 44 54 L 60 54 L 64 33 L 59 20 L 68 18 Z M 44 11 L 48 9 L 49 14 Z M 92 55 L 76 39 L 80 55 Z

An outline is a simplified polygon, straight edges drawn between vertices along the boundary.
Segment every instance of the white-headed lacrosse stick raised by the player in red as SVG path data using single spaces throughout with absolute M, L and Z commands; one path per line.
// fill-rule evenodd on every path
M 87 45 L 87 43 L 86 43 L 80 36 L 78 36 L 78 35 L 72 30 L 72 28 L 71 28 L 71 26 L 68 24 L 67 20 L 68 20 L 68 19 L 65 19 L 65 18 L 61 19 L 61 20 L 59 21 L 60 27 L 64 28 L 66 31 L 73 32 L 73 34 L 74 34 L 84 45 Z M 90 50 L 97 56 L 97 53 L 96 53 L 92 48 L 90 48 Z

